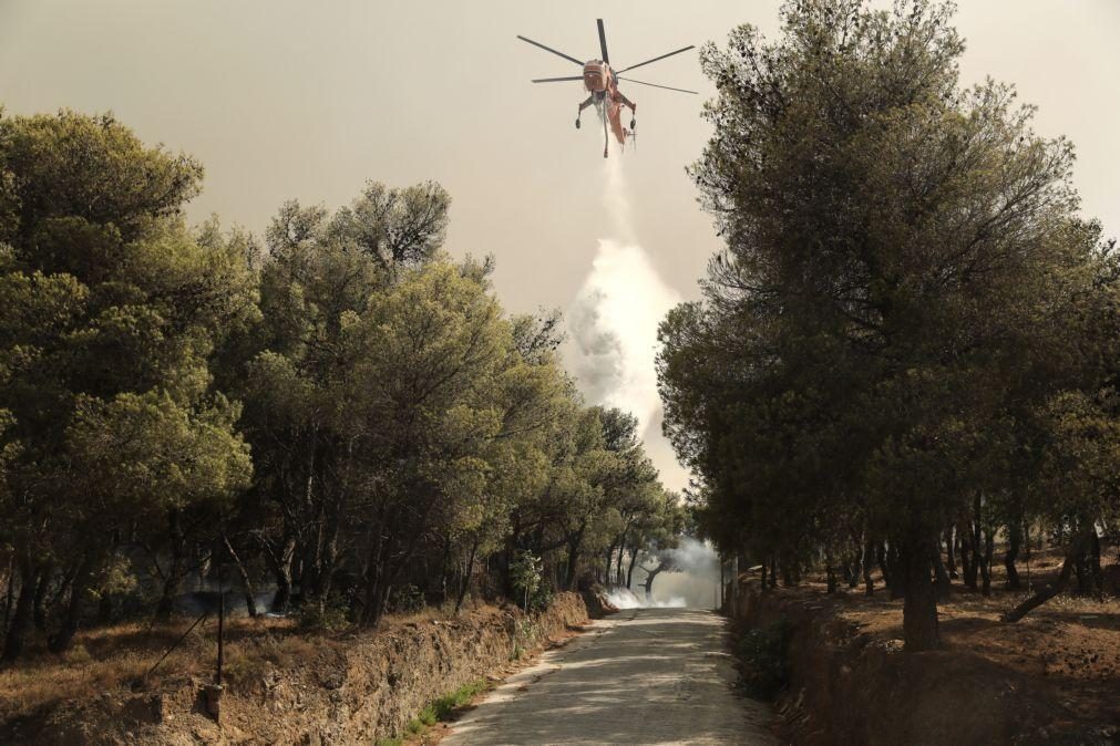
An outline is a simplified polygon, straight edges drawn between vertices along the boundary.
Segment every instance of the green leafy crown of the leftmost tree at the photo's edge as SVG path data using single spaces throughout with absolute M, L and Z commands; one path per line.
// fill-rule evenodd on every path
M 200 176 L 111 116 L 0 119 L 0 540 L 25 587 L 57 570 L 111 588 L 118 542 L 160 551 L 169 516 L 249 484 L 212 363 L 259 318 L 256 280 L 243 237 L 183 223 Z

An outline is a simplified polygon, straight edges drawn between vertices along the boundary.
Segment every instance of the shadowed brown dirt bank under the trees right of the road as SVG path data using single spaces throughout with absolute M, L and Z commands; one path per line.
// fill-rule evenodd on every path
M 740 584 L 735 616 L 786 620 L 790 681 L 778 698 L 794 744 L 1114 744 L 1120 739 L 1120 616 L 1052 608 L 1017 625 L 1006 599 L 942 605 L 944 649 L 905 653 L 902 602 L 886 592 L 760 593 Z M 1095 602 L 1094 602 L 1095 603 Z M 1107 602 L 1110 607 L 1116 602 Z

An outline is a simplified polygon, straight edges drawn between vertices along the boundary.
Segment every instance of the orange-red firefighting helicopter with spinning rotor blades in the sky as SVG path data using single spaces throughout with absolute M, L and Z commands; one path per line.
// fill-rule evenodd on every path
M 579 112 L 576 114 L 576 128 L 579 128 L 579 119 L 584 114 L 584 110 L 590 105 L 595 105 L 596 111 L 599 114 L 599 119 L 603 120 L 603 157 L 607 157 L 607 147 L 610 144 L 610 135 L 607 133 L 607 128 L 609 125 L 610 131 L 614 132 L 615 139 L 618 140 L 619 144 L 625 145 L 627 138 L 634 136 L 634 128 L 637 122 L 634 115 L 637 111 L 637 106 L 626 96 L 622 94 L 618 89 L 618 81 L 626 81 L 628 83 L 637 83 L 638 85 L 648 85 L 654 88 L 664 88 L 665 91 L 676 91 L 678 93 L 691 93 L 696 94 L 696 91 L 685 91 L 684 88 L 673 88 L 668 85 L 657 85 L 656 83 L 644 83 L 642 81 L 635 81 L 634 78 L 620 77 L 623 73 L 632 70 L 636 67 L 642 67 L 648 65 L 650 63 L 655 63 L 659 59 L 664 59 L 665 57 L 672 57 L 673 55 L 679 55 L 682 51 L 688 51 L 693 49 L 693 45 L 688 47 L 681 47 L 675 51 L 670 51 L 666 55 L 661 55 L 660 57 L 654 57 L 653 59 L 647 59 L 644 63 L 638 63 L 637 65 L 631 65 L 620 70 L 612 69 L 610 57 L 607 55 L 607 36 L 603 31 L 603 19 L 598 19 L 599 25 L 599 51 L 603 54 L 603 59 L 591 59 L 586 63 L 581 63 L 570 55 L 566 55 L 562 51 L 558 51 L 552 47 L 545 47 L 540 41 L 533 41 L 532 39 L 526 39 L 523 36 L 517 38 L 522 41 L 528 41 L 534 47 L 540 47 L 545 51 L 551 51 L 558 57 L 563 57 L 568 62 L 576 63 L 584 68 L 582 75 L 571 75 L 568 77 L 543 77 L 533 81 L 533 83 L 560 83 L 562 81 L 582 81 L 584 87 L 590 94 L 587 101 L 579 105 Z M 623 128 L 622 122 L 622 110 L 623 106 L 628 106 L 631 110 L 631 128 L 626 130 Z

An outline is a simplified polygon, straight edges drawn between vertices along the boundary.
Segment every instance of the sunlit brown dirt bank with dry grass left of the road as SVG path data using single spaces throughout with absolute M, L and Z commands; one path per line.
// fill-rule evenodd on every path
M 323 640 L 299 660 L 233 667 L 221 725 L 204 712 L 205 679 L 170 677 L 155 691 L 109 690 L 6 728 L 26 744 L 371 744 L 400 734 L 433 699 L 508 664 L 587 620 L 582 598 L 547 612 L 482 610 Z M 268 644 L 262 640 L 260 644 Z

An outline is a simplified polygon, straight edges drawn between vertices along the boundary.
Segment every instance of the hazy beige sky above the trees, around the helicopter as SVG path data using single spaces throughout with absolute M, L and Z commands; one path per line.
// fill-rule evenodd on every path
M 193 218 L 216 213 L 256 233 L 286 199 L 333 208 L 367 179 L 436 179 L 454 199 L 449 249 L 494 254 L 510 310 L 568 309 L 603 258 L 601 238 L 644 249 L 647 266 L 633 281 L 660 275 L 656 306 L 694 298 L 717 247 L 684 174 L 708 136 L 700 106 L 711 86 L 688 53 L 634 74 L 703 95 L 624 87 L 640 135 L 619 163 L 634 235 L 616 236 L 601 131 L 589 117 L 582 130 L 572 124 L 580 84 L 529 83 L 579 69 L 514 37 L 597 57 L 601 17 L 610 57 L 625 66 L 721 43 L 741 22 L 773 35 L 778 4 L 0 0 L 0 104 L 21 114 L 112 110 L 146 141 L 205 163 Z M 1085 213 L 1120 233 L 1120 1 L 959 4 L 964 82 L 991 75 L 1037 104 L 1036 129 L 1077 147 Z M 605 276 L 629 281 L 617 268 Z M 629 322 L 648 325 L 647 315 Z M 648 440 L 666 482 L 680 487 L 664 443 Z

